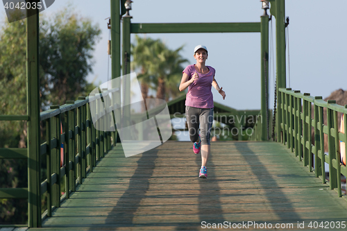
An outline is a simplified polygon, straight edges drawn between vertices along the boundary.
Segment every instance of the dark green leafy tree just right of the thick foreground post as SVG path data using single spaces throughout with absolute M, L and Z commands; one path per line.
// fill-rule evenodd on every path
M 101 33 L 99 26 L 65 9 L 52 19 L 43 20 L 40 31 L 45 103 L 61 105 L 88 94 L 86 76 L 92 71 L 92 51 Z

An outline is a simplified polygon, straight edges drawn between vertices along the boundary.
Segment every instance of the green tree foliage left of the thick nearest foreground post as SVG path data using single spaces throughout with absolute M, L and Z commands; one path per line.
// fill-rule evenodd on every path
M 0 33 L 0 114 L 26 113 L 26 24 Z M 26 122 L 0 121 L 0 147 L 26 147 Z M 0 160 L 0 187 L 28 187 L 26 160 Z M 26 200 L 0 199 L 1 223 L 26 223 Z

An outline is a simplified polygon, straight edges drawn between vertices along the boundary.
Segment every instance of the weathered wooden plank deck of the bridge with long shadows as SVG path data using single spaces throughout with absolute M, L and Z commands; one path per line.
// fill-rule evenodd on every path
M 29 230 L 206 230 L 202 221 L 306 230 L 310 221 L 347 221 L 346 200 L 282 144 L 213 142 L 211 149 L 208 178 L 200 179 L 201 155 L 190 142 L 166 142 L 128 158 L 117 146 L 44 228 Z

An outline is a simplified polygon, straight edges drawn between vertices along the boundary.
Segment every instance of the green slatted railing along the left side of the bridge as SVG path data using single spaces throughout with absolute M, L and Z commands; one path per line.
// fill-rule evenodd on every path
M 103 94 L 117 95 L 117 91 L 104 91 Z M 90 102 L 100 100 L 101 94 L 92 97 L 79 97 L 78 101 L 67 101 L 65 105 L 53 105 L 50 110 L 40 113 L 41 123 L 45 123 L 46 142 L 40 146 L 40 158 L 46 158 L 46 180 L 28 185 L 39 185 L 40 198 L 47 193 L 47 210 L 42 214 L 51 216 L 55 207 L 69 198 L 76 185 L 93 170 L 96 163 L 116 145 L 117 132 L 96 130 L 92 123 Z M 115 99 L 115 98 L 113 98 Z M 105 112 L 105 108 L 92 108 L 94 114 Z M 97 110 L 97 111 L 96 111 Z M 106 115 L 110 116 L 110 114 Z M 5 120 L 3 117 L 1 120 Z M 18 119 L 18 118 L 17 118 Z M 106 121 L 106 120 L 103 120 Z M 108 120 L 110 121 L 110 120 Z M 99 123 L 99 121 L 97 122 Z M 60 148 L 64 145 L 64 164 L 61 166 Z M 27 159 L 27 148 L 0 148 L 0 159 Z M 29 160 L 30 161 L 30 160 Z M 40 172 L 42 169 L 40 169 Z M 61 196 L 60 180 L 65 177 L 65 194 Z M 28 198 L 31 191 L 22 189 L 0 189 L 0 198 Z M 41 208 L 41 201 L 37 207 Z M 41 209 L 40 209 L 41 211 Z M 35 216 L 35 214 L 31 214 Z M 37 218 L 33 218 L 37 219 Z M 40 221 L 41 219 L 37 219 Z M 24 227 L 28 225 L 0 225 L 1 227 Z M 40 227 L 40 224 L 38 225 Z

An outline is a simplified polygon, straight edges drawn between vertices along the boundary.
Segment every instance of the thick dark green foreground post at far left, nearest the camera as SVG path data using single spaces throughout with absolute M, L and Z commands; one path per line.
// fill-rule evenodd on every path
M 26 89 L 28 112 L 28 226 L 41 227 L 39 14 L 28 8 L 26 19 Z

